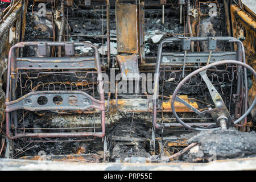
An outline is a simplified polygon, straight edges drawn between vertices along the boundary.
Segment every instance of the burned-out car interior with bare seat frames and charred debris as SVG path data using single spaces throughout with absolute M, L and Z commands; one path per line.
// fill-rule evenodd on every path
M 1 158 L 256 161 L 247 2 L 3 2 Z

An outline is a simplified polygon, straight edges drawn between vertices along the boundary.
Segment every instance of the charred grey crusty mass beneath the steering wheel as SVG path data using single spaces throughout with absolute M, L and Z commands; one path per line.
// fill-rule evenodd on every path
M 187 162 L 208 162 L 214 159 L 253 157 L 256 155 L 256 133 L 234 129 L 201 132 L 187 140 L 197 142 L 191 151 L 183 156 Z

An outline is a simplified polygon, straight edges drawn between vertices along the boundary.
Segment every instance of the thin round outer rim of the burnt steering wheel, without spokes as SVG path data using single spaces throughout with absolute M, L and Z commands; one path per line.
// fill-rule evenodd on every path
M 236 60 L 224 60 L 224 61 L 218 61 L 218 62 L 215 62 L 215 63 L 211 63 L 211 64 L 208 64 L 208 65 L 205 65 L 204 67 L 202 68 L 199 68 L 199 69 L 196 69 L 195 71 L 193 71 L 192 73 L 190 73 L 189 75 L 187 75 L 186 77 L 183 78 L 183 80 L 181 80 L 179 82 L 179 84 L 176 86 L 175 90 L 174 90 L 174 93 L 172 94 L 172 100 L 171 100 L 171 109 L 172 109 L 172 114 L 174 114 L 174 117 L 177 119 L 177 121 L 179 123 L 181 123 L 181 125 L 183 125 L 184 127 L 186 127 L 187 129 L 189 130 L 196 130 L 196 131 L 207 131 L 207 130 L 219 130 L 221 127 L 216 127 L 216 128 L 213 128 L 213 129 L 202 129 L 202 128 L 199 128 L 199 127 L 191 127 L 189 126 L 187 123 L 183 122 L 177 115 L 176 111 L 175 111 L 175 100 L 176 100 L 176 96 L 177 96 L 177 92 L 178 90 L 181 88 L 181 86 L 183 86 L 185 84 L 185 82 L 191 78 L 192 76 L 195 76 L 197 74 L 199 74 L 200 72 L 202 71 L 205 71 L 211 67 L 214 67 L 214 66 L 217 66 L 217 65 L 222 65 L 222 64 L 238 64 L 238 65 L 241 65 L 242 67 L 245 67 L 247 69 L 249 69 L 249 71 L 251 73 L 253 73 L 253 76 L 254 76 L 254 79 L 256 81 L 256 72 L 254 71 L 253 68 L 251 68 L 249 65 L 241 62 L 241 61 L 236 61 Z M 251 106 L 249 107 L 249 109 L 247 109 L 247 111 L 240 117 L 238 118 L 236 121 L 234 121 L 234 125 L 236 125 L 238 122 L 242 121 L 243 118 L 246 117 L 246 115 L 248 115 L 250 113 L 251 110 L 253 110 L 254 106 L 256 104 L 256 97 L 254 98 L 253 100 L 253 103 L 251 104 Z M 227 127 L 230 127 L 230 126 L 227 126 Z

